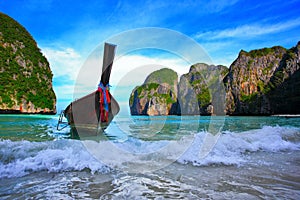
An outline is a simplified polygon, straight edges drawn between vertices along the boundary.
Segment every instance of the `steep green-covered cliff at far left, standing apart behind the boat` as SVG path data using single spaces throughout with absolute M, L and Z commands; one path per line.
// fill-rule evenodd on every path
M 56 113 L 52 76 L 32 36 L 0 13 L 0 113 Z

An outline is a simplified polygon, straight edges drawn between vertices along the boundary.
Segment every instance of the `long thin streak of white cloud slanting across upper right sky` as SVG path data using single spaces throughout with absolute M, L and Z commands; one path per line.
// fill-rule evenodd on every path
M 278 33 L 300 26 L 300 18 L 277 24 L 243 25 L 225 30 L 209 31 L 195 35 L 197 39 L 211 40 L 222 38 L 255 37 L 260 35 Z

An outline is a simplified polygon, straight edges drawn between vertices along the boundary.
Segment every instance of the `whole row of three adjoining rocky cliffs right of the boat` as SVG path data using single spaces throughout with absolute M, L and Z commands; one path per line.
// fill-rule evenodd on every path
M 178 82 L 171 69 L 151 73 L 130 95 L 132 115 L 300 114 L 300 42 L 246 52 L 230 65 L 194 64 Z

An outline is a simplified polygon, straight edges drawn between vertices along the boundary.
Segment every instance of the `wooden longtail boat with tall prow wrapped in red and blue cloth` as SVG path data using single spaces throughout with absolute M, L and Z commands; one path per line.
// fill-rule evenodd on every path
M 62 129 L 60 124 L 64 123 L 62 119 L 65 117 L 72 134 L 95 135 L 105 130 L 114 116 L 118 114 L 119 104 L 109 92 L 109 78 L 115 50 L 116 45 L 104 44 L 102 74 L 98 90 L 70 103 L 61 113 L 57 129 Z

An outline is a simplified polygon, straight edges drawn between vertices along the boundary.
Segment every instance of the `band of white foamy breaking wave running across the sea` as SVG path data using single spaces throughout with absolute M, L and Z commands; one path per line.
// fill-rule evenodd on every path
M 207 156 L 201 158 L 199 153 L 205 134 L 199 132 L 178 141 L 142 141 L 136 138 L 122 142 L 0 140 L 0 178 L 39 171 L 88 169 L 92 173 L 107 173 L 112 168 L 122 170 L 126 167 L 139 171 L 149 168 L 149 171 L 174 161 L 195 166 L 241 165 L 248 161 L 252 152 L 300 150 L 299 128 L 264 126 L 245 132 L 223 132 Z

